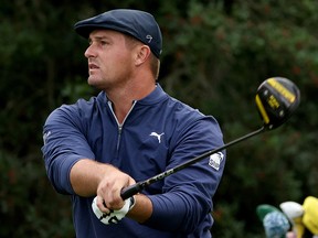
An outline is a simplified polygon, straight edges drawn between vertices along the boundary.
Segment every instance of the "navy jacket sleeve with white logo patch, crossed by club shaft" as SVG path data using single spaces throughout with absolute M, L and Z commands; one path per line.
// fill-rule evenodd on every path
M 177 138 L 167 170 L 224 144 L 220 127 L 212 117 L 195 121 L 179 131 Z M 200 230 L 199 226 L 209 229 L 213 223 L 212 197 L 224 164 L 225 151 L 222 151 L 166 177 L 162 194 L 149 196 L 153 213 L 145 225 L 178 234 L 194 232 Z

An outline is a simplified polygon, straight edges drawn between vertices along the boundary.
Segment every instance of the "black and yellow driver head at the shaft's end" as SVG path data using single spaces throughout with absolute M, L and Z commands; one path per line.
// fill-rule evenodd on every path
M 268 130 L 283 125 L 300 102 L 300 91 L 289 79 L 272 77 L 264 80 L 256 93 L 256 106 Z

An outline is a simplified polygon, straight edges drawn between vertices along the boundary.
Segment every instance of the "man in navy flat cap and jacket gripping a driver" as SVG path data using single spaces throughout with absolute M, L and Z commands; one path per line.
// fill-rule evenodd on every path
M 120 197 L 136 181 L 223 145 L 213 117 L 157 83 L 162 40 L 156 20 L 118 9 L 77 22 L 75 31 L 88 39 L 88 84 L 100 94 L 54 110 L 42 151 L 54 188 L 72 196 L 76 237 L 211 237 L 224 151 L 134 198 Z

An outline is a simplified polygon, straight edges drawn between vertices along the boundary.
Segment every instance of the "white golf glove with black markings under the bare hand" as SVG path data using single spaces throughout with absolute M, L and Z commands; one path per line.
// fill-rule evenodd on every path
M 99 210 L 96 204 L 96 198 L 94 198 L 92 203 L 92 209 L 96 217 L 104 224 L 109 225 L 109 224 L 117 224 L 119 220 L 121 220 L 126 214 L 134 207 L 135 205 L 135 198 L 129 197 L 125 201 L 125 205 L 119 209 L 119 210 L 112 210 L 110 213 L 106 214 Z

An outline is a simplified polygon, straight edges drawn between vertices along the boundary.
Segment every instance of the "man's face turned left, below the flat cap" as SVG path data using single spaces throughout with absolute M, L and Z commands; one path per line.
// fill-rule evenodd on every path
M 124 34 L 110 30 L 93 31 L 85 51 L 88 84 L 106 90 L 127 83 L 134 68 L 132 56 Z

